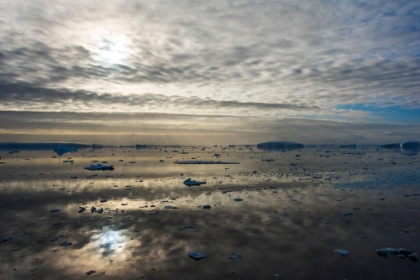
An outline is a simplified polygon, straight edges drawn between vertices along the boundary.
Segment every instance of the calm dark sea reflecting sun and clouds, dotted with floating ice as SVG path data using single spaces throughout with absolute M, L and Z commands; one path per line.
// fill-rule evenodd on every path
M 0 156 L 0 237 L 13 237 L 0 244 L 1 279 L 420 279 L 420 262 L 376 254 L 420 254 L 418 155 L 168 147 Z M 174 164 L 190 159 L 240 164 Z M 115 170 L 84 169 L 101 162 Z M 207 184 L 187 187 L 189 177 Z M 207 257 L 190 259 L 192 250 Z

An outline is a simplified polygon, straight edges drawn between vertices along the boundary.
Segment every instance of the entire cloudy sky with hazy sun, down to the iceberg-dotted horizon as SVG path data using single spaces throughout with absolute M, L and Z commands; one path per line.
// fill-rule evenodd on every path
M 0 6 L 0 142 L 420 140 L 418 0 Z

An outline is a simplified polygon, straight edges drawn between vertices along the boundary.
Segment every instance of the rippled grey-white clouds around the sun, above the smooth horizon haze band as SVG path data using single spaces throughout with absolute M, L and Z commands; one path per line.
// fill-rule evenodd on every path
M 382 108 L 420 111 L 418 1 L 0 4 L 3 111 L 376 122 L 389 121 Z

